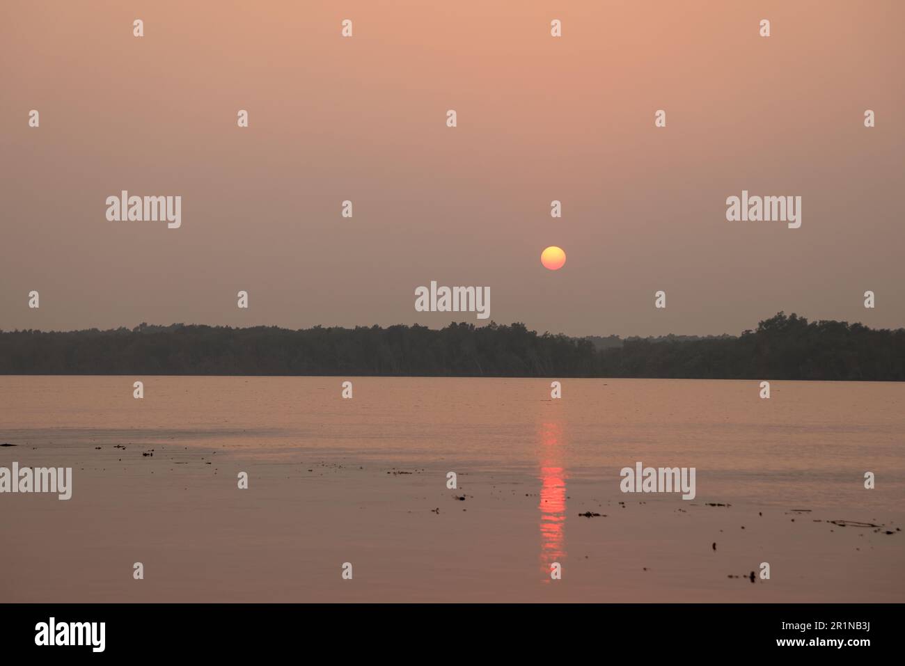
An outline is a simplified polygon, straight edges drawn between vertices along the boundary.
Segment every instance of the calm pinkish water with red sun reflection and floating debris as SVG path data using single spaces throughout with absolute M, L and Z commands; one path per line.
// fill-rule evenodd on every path
M 773 382 L 761 400 L 750 381 L 564 379 L 552 400 L 549 379 L 146 376 L 136 400 L 137 378 L 0 377 L 0 442 L 17 444 L 0 448 L 0 465 L 75 468 L 70 502 L 0 497 L 0 527 L 27 537 L 0 557 L 23 572 L 15 600 L 59 599 L 60 589 L 71 589 L 67 600 L 134 598 L 109 571 L 144 549 L 164 578 L 141 593 L 151 600 L 482 599 L 494 585 L 481 572 L 502 598 L 531 600 L 524 576 L 548 584 L 553 562 L 579 571 L 592 599 L 734 600 L 741 588 L 727 575 L 772 553 L 788 555 L 800 580 L 773 586 L 769 600 L 820 601 L 836 597 L 807 579 L 814 563 L 842 576 L 868 547 L 876 572 L 865 567 L 874 577 L 855 580 L 852 594 L 902 600 L 891 564 L 899 535 L 843 543 L 820 519 L 901 524 L 905 385 Z M 346 379 L 352 400 L 340 397 Z M 621 493 L 619 471 L 635 461 L 697 468 L 697 498 Z M 237 470 L 250 471 L 245 495 Z M 465 501 L 451 501 L 446 471 L 459 474 Z M 865 471 L 876 490 L 864 490 Z M 791 509 L 819 519 L 793 524 Z M 585 510 L 608 518 L 579 518 Z M 776 523 L 758 533 L 759 512 Z M 68 559 L 36 561 L 61 531 Z M 349 552 L 385 584 L 331 588 L 331 567 Z M 300 558 L 322 567 L 320 583 L 271 579 Z M 647 573 L 641 561 L 653 563 Z M 676 562 L 691 580 L 655 577 Z M 69 566 L 90 585 L 73 587 Z M 38 581 L 53 567 L 62 587 L 44 594 Z M 224 586 L 220 576 L 236 570 L 241 582 Z M 588 599 L 571 589 L 568 598 Z

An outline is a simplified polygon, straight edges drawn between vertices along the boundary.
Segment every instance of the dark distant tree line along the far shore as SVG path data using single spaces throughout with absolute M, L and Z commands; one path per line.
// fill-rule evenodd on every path
M 905 380 L 902 328 L 780 312 L 737 337 L 613 338 L 538 334 L 519 323 L 16 330 L 0 332 L 0 374 Z

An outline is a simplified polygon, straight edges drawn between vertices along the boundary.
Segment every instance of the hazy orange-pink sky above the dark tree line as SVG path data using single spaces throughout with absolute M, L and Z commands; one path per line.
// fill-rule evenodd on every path
M 432 280 L 573 335 L 898 328 L 902 24 L 893 0 L 4 0 L 0 328 L 486 323 L 416 312 Z M 123 189 L 181 195 L 181 228 L 108 222 Z M 802 196 L 801 228 L 727 222 L 743 189 Z

